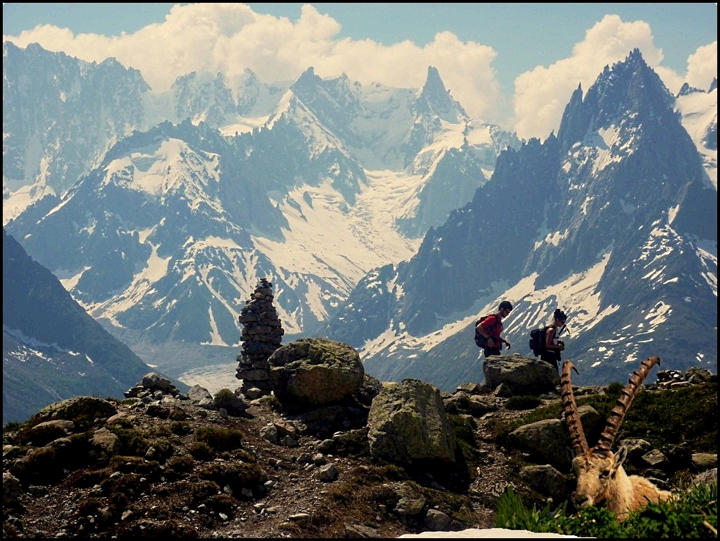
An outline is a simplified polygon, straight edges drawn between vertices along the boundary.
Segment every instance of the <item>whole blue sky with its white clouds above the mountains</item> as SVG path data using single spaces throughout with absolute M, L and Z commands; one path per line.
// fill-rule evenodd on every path
M 192 71 L 292 81 L 312 67 L 420 88 L 428 66 L 467 113 L 546 138 L 580 85 L 639 48 L 676 94 L 717 76 L 716 3 L 3 4 L 3 41 L 138 69 L 153 91 Z

